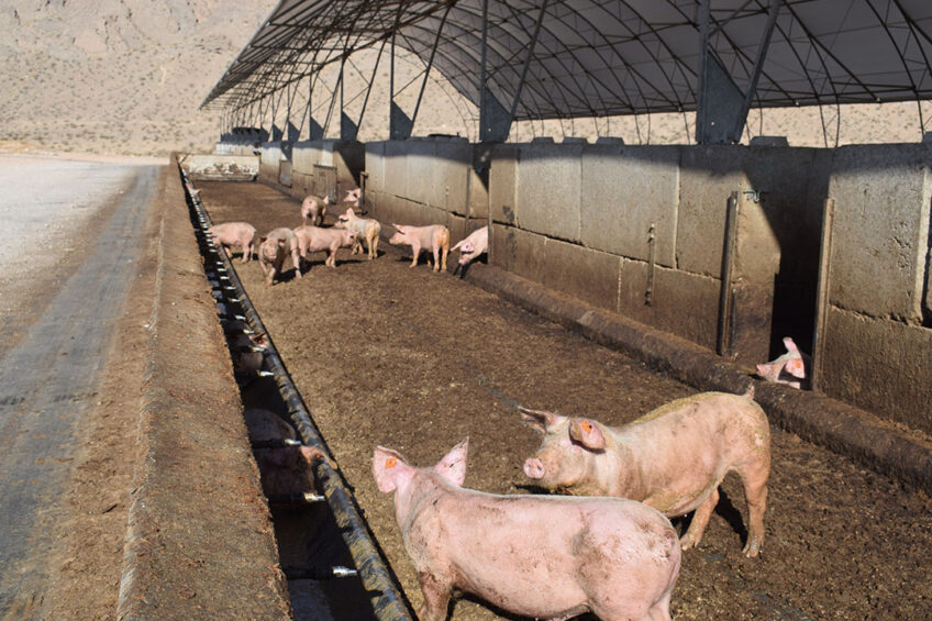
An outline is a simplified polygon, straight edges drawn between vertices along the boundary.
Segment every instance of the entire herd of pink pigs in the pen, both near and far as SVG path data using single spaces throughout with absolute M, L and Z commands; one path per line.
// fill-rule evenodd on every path
M 296 229 L 257 235 L 248 223 L 228 222 L 210 233 L 224 247 L 241 251 L 244 263 L 257 254 L 270 286 L 289 256 L 298 278 L 308 253 L 328 253 L 325 265 L 334 267 L 339 248 L 362 253 L 365 242 L 368 258 L 376 258 L 381 225 L 356 215 L 359 198 L 358 189 L 347 192 L 346 209 L 332 228 L 321 226 L 330 201 L 308 197 Z M 392 226 L 389 243 L 411 246 L 411 267 L 428 251 L 433 270 L 446 269 L 451 248 L 445 226 Z M 453 246 L 461 251 L 461 265 L 487 248 L 487 226 Z M 787 353 L 757 365 L 758 375 L 805 388 L 808 356 L 791 339 L 784 342 Z M 741 478 L 747 506 L 743 553 L 759 554 L 770 430 L 753 386 L 745 395 L 704 392 L 679 399 L 619 428 L 586 417 L 518 410 L 542 437 L 536 454 L 523 464 L 524 475 L 542 494 L 464 488 L 468 437 L 433 467 L 414 467 L 391 448 L 375 448 L 373 474 L 380 491 L 395 494 L 395 517 L 423 594 L 421 619 L 445 619 L 457 592 L 535 619 L 584 612 L 607 621 L 669 619 L 681 551 L 699 545 L 719 501 L 719 485 L 732 472 Z M 263 421 L 253 425 L 263 439 L 296 437 L 270 412 L 247 415 Z M 259 465 L 266 492 L 310 487 L 308 466 L 315 458 L 325 457 L 293 450 L 264 453 L 266 463 Z M 282 483 L 273 474 L 293 470 L 296 464 L 301 481 Z M 678 536 L 669 519 L 690 512 L 689 526 Z

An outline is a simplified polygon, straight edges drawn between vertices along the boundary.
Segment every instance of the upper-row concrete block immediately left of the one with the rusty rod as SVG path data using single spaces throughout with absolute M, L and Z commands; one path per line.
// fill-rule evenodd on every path
M 526 144 L 519 152 L 518 221 L 522 229 L 581 241 L 580 144 Z

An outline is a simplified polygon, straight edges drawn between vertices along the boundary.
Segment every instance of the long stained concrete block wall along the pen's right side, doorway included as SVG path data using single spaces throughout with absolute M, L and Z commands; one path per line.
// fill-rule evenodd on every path
M 736 192 L 730 357 L 748 369 L 780 354 L 784 336 L 813 346 L 832 197 L 823 389 L 932 432 L 929 145 L 502 144 L 486 178 L 471 167 L 478 148 L 367 144 L 375 217 L 443 223 L 456 242 L 487 206 L 493 264 L 709 348 Z

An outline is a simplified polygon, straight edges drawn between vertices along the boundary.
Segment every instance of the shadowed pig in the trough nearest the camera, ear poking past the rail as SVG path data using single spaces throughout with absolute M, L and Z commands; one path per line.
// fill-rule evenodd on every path
M 297 440 L 298 434 L 295 428 L 275 412 L 251 408 L 243 412 L 243 418 L 249 442 L 269 444 L 254 448 L 263 492 L 266 497 L 313 491 L 312 463 L 314 459 L 330 462 L 330 458 L 313 446 L 285 445 L 285 440 Z

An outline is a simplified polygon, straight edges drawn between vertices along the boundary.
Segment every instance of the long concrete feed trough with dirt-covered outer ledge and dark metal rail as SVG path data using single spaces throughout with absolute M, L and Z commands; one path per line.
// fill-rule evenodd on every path
M 116 617 L 292 619 L 290 576 L 277 550 L 281 542 L 276 542 L 263 496 L 243 419 L 242 387 L 221 328 L 221 313 L 242 312 L 257 331 L 264 331 L 262 320 L 225 254 L 207 239 L 209 219 L 186 193 L 184 173 L 163 177 L 157 301 Z M 206 265 L 214 278 L 222 270 L 222 284 L 211 284 Z M 264 366 L 302 442 L 328 453 L 274 344 Z M 364 600 L 362 607 L 354 602 L 354 619 L 411 619 L 339 469 L 319 461 L 314 475 L 336 523 L 332 533 L 342 535 L 340 543 L 354 566 L 312 577 L 345 575 L 358 581 L 356 592 L 365 596 L 357 598 Z

